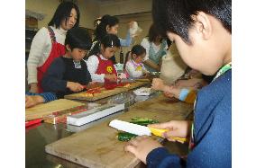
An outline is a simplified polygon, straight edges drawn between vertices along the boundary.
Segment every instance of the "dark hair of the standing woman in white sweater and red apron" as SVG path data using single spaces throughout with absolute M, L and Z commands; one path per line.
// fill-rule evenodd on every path
M 48 23 L 48 26 L 54 26 L 56 28 L 59 28 L 61 21 L 65 19 L 65 22 L 67 23 L 69 20 L 69 15 L 71 13 L 72 9 L 75 9 L 78 14 L 78 19 L 74 27 L 78 27 L 79 20 L 80 20 L 80 12 L 77 4 L 74 4 L 72 2 L 63 2 L 60 3 L 58 8 L 56 9 L 53 17 L 51 18 L 50 22 Z

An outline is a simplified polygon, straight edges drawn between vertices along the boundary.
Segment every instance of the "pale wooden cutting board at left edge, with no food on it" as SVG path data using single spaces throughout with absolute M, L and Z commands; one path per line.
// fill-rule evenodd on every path
M 81 105 L 84 105 L 84 103 L 74 102 L 67 99 L 59 99 L 52 102 L 41 103 L 32 108 L 26 109 L 26 120 L 40 119 L 44 115 L 49 115 L 52 112 L 62 111 Z

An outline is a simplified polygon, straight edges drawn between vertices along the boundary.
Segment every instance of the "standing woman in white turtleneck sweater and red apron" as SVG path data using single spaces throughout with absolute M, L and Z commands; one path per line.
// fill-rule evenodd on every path
M 31 93 L 41 93 L 41 78 L 55 57 L 65 54 L 66 33 L 79 24 L 78 6 L 71 2 L 59 4 L 48 27 L 42 27 L 34 39 L 28 58 L 28 84 Z

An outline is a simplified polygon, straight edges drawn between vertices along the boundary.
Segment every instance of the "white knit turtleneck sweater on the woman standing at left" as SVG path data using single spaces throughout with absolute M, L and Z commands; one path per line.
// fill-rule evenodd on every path
M 55 33 L 56 41 L 64 45 L 67 31 L 50 26 Z M 37 67 L 42 66 L 50 55 L 51 40 L 47 28 L 42 27 L 32 40 L 30 55 L 27 62 L 28 84 L 37 83 Z

